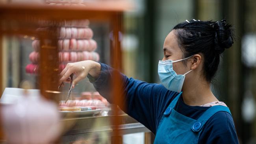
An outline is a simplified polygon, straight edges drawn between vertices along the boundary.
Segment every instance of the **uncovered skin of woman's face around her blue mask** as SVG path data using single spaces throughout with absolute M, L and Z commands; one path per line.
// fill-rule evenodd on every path
M 165 41 L 163 43 L 163 60 L 179 60 L 183 59 L 183 52 L 180 49 L 180 46 L 177 41 L 177 37 L 174 34 L 175 30 L 172 30 L 167 37 L 165 38 Z M 185 74 L 190 69 L 188 69 L 182 61 L 173 63 L 173 70 L 177 74 Z

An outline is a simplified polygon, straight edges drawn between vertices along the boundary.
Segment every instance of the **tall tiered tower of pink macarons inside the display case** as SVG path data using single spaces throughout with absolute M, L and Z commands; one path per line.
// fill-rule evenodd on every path
M 49 28 L 38 28 L 38 31 L 50 31 Z M 64 21 L 62 26 L 58 28 L 58 57 L 59 71 L 62 71 L 67 63 L 78 61 L 93 60 L 99 61 L 100 56 L 95 52 L 97 42 L 93 38 L 93 30 L 89 28 L 89 20 L 72 20 Z M 40 41 L 33 40 L 32 47 L 34 51 L 29 58 L 33 66 L 39 62 Z M 32 68 L 32 64 L 28 68 Z M 32 70 L 27 70 L 28 73 L 35 73 Z M 38 66 L 37 66 L 38 67 Z

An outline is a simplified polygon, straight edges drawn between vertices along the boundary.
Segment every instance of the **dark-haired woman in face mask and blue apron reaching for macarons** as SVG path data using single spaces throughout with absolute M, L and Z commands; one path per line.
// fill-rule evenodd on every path
M 226 20 L 177 24 L 165 38 L 164 56 L 158 64 L 162 84 L 129 79 L 119 73 L 125 112 L 156 135 L 155 143 L 238 143 L 228 107 L 210 89 L 220 54 L 232 44 L 232 29 Z M 88 76 L 95 89 L 111 102 L 112 72 L 113 68 L 94 61 L 69 63 L 60 74 L 60 83 L 75 73 L 74 87 Z

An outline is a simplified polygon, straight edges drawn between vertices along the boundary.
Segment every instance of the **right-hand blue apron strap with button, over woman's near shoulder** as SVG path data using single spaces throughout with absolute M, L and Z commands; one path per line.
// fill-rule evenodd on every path
M 198 120 L 193 124 L 193 126 L 191 127 L 192 131 L 194 131 L 194 132 L 200 131 L 202 129 L 202 127 L 204 127 L 204 124 L 207 122 L 207 120 L 210 119 L 211 116 L 213 116 L 213 114 L 215 114 L 219 111 L 224 111 L 224 112 L 227 112 L 231 115 L 230 110 L 228 109 L 228 107 L 225 107 L 223 105 L 212 106 L 208 110 L 206 110 L 202 114 L 202 116 L 200 116 L 198 118 Z

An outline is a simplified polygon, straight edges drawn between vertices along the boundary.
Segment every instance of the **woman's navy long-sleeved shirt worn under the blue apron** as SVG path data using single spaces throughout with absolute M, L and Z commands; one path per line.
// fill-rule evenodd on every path
M 100 63 L 101 73 L 98 79 L 93 80 L 95 89 L 104 96 L 110 103 L 111 100 L 111 80 L 113 79 L 114 69 Z M 122 80 L 122 103 L 126 105 L 124 112 L 135 118 L 138 122 L 147 127 L 152 133 L 156 134 L 156 129 L 161 120 L 165 109 L 173 98 L 179 93 L 169 91 L 163 85 L 156 83 L 146 83 L 133 78 L 128 78 L 121 73 L 117 75 Z M 122 108 L 122 107 L 121 107 Z M 183 102 L 180 96 L 175 110 L 197 120 L 209 107 L 189 106 Z M 238 144 L 236 129 L 233 118 L 230 114 L 220 111 L 215 113 L 205 124 L 198 139 L 199 144 Z

